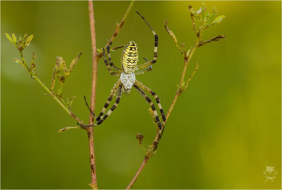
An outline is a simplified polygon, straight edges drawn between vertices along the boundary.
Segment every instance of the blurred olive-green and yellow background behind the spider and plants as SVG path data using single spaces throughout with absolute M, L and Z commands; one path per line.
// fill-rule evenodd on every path
M 130 1 L 94 1 L 97 47 L 105 46 Z M 187 49 L 196 35 L 188 6 L 200 1 L 136 1 L 113 46 L 137 42 L 140 61 L 153 58 L 154 38 L 140 12 L 159 36 L 158 61 L 137 79 L 161 98 L 165 113 L 180 81 L 183 58 L 164 28 Z M 200 65 L 178 99 L 156 156 L 132 189 L 281 189 L 281 1 L 205 1 L 226 18 L 208 28 L 204 40 L 226 40 L 197 49 L 186 80 Z M 77 96 L 72 111 L 88 121 L 83 95 L 90 99 L 91 44 L 87 1 L 1 1 L 1 189 L 90 189 L 86 131 L 62 133 L 76 121 L 13 58 L 17 49 L 4 33 L 34 34 L 24 51 L 48 86 L 56 56 L 67 65 L 83 52 L 67 78 L 63 95 Z M 122 49 L 114 51 L 120 66 Z M 98 63 L 96 112 L 117 77 Z M 58 83 L 58 81 L 57 81 Z M 153 99 L 153 98 L 152 98 Z M 155 102 L 155 101 L 154 101 Z M 136 133 L 151 144 L 155 125 L 150 105 L 133 90 L 122 95 L 111 116 L 94 129 L 99 189 L 125 189 L 144 159 Z M 272 163 L 276 178 L 266 180 Z

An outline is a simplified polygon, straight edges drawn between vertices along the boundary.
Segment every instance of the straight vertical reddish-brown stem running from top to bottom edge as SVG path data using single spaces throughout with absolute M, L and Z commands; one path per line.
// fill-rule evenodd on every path
M 93 10 L 93 1 L 88 1 L 89 9 L 89 22 L 90 22 L 90 33 L 91 33 L 91 47 L 92 47 L 92 85 L 91 85 L 91 100 L 90 108 L 95 112 L 96 102 L 96 86 L 97 86 L 97 48 L 96 48 L 96 33 L 95 33 L 95 19 Z M 93 124 L 93 116 L 89 114 L 89 125 Z M 94 152 L 94 127 L 87 128 L 88 142 L 89 142 L 89 162 L 91 168 L 91 183 L 92 189 L 97 189 L 97 177 L 96 177 L 96 164 L 95 164 L 95 152 Z

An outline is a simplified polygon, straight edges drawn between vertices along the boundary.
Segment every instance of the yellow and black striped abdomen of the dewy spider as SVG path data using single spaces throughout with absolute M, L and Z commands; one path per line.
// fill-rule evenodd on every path
M 124 48 L 121 56 L 121 68 L 126 74 L 134 73 L 137 62 L 138 52 L 137 45 L 134 41 L 130 41 Z

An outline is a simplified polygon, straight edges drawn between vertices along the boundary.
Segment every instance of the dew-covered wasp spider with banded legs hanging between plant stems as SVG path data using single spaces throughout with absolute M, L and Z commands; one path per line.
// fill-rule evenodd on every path
M 138 13 L 138 14 L 142 17 L 142 15 L 140 13 Z M 105 103 L 104 108 L 102 109 L 99 116 L 97 116 L 97 117 L 95 116 L 95 114 L 92 112 L 92 110 L 87 105 L 87 102 L 86 102 L 86 99 L 85 99 L 85 96 L 84 96 L 84 99 L 85 99 L 85 102 L 86 102 L 88 109 L 90 110 L 90 112 L 96 118 L 96 120 L 98 122 L 96 124 L 93 124 L 93 125 L 81 125 L 79 123 L 78 123 L 78 125 L 89 127 L 89 126 L 96 126 L 96 125 L 101 124 L 103 121 L 105 121 L 105 119 L 108 116 L 110 116 L 110 114 L 113 112 L 113 110 L 118 105 L 120 98 L 121 98 L 121 93 L 129 94 L 129 92 L 131 91 L 131 88 L 134 87 L 137 90 L 137 92 L 139 92 L 140 95 L 151 105 L 153 113 L 154 113 L 155 121 L 157 122 L 159 129 L 162 128 L 161 121 L 158 117 L 158 113 L 156 111 L 155 105 L 152 103 L 151 99 L 148 97 L 148 95 L 146 95 L 146 93 L 143 90 L 150 93 L 156 99 L 156 102 L 157 102 L 158 107 L 160 109 L 163 121 L 166 121 L 166 116 L 164 115 L 164 111 L 161 107 L 160 98 L 158 98 L 156 93 L 153 92 L 150 88 L 146 87 L 145 85 L 142 84 L 142 82 L 138 82 L 135 79 L 135 75 L 143 74 L 145 72 L 151 71 L 153 69 L 152 64 L 156 63 L 157 56 L 158 56 L 158 54 L 157 54 L 158 35 L 155 33 L 155 31 L 152 29 L 152 27 L 148 24 L 148 22 L 145 20 L 145 18 L 142 17 L 142 19 L 147 23 L 147 25 L 149 26 L 149 28 L 152 30 L 153 34 L 155 35 L 154 59 L 151 60 L 151 61 L 148 61 L 147 59 L 145 59 L 145 61 L 146 61 L 145 64 L 137 66 L 137 61 L 138 61 L 137 45 L 134 41 L 130 41 L 129 44 L 124 48 L 124 50 L 122 52 L 121 69 L 120 69 L 120 68 L 116 67 L 112 62 L 112 59 L 111 59 L 111 56 L 110 56 L 110 46 L 111 46 L 111 42 L 110 42 L 110 44 L 107 46 L 109 63 L 108 63 L 106 56 L 105 56 L 105 49 L 103 49 L 104 62 L 106 64 L 110 74 L 114 75 L 114 76 L 119 76 L 120 78 L 118 79 L 118 81 L 114 85 L 113 89 L 111 90 L 108 101 Z M 146 68 L 146 69 L 143 69 L 143 68 Z M 114 69 L 115 71 L 113 71 L 112 69 Z M 143 70 L 137 71 L 139 69 L 143 69 Z M 135 70 L 137 72 L 135 72 Z M 116 94 L 116 102 L 113 104 L 112 108 L 110 108 L 110 110 L 108 110 L 108 112 L 104 115 L 106 108 L 109 106 L 109 104 L 112 101 L 113 96 L 115 94 Z

